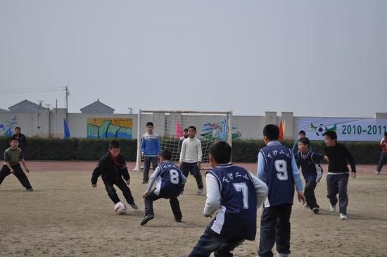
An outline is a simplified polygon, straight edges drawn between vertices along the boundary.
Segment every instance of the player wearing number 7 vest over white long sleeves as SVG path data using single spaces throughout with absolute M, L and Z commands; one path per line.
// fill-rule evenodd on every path
M 215 218 L 189 256 L 233 256 L 231 251 L 245 239 L 254 240 L 257 208 L 267 196 L 265 183 L 245 168 L 233 165 L 231 146 L 219 141 L 210 147 L 210 165 L 205 175 L 207 199 L 203 214 Z

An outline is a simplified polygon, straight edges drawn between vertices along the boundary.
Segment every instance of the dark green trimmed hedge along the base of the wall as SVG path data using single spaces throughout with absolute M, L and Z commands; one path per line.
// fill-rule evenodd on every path
M 173 139 L 170 139 L 173 140 Z M 28 160 L 98 160 L 106 153 L 110 139 L 43 139 L 27 138 Z M 121 153 L 127 161 L 135 161 L 137 139 L 118 139 Z M 177 144 L 177 142 L 175 142 Z M 293 142 L 284 141 L 291 148 Z M 378 142 L 341 142 L 353 154 L 356 163 L 377 163 L 381 149 Z M 265 146 L 262 140 L 235 140 L 232 142 L 232 160 L 234 162 L 255 163 L 258 150 Z M 8 138 L 0 137 L 0 150 L 9 147 Z M 312 142 L 313 151 L 324 153 L 324 142 Z M 3 155 L 0 155 L 1 159 Z

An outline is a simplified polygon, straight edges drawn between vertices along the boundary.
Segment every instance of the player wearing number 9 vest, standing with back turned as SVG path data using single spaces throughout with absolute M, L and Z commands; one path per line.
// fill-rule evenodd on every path
M 261 217 L 259 256 L 273 256 L 274 243 L 279 256 L 291 253 L 290 216 L 295 184 L 298 201 L 305 203 L 296 160 L 291 149 L 278 142 L 278 137 L 279 127 L 266 125 L 263 139 L 267 146 L 258 153 L 258 178 L 269 188 Z

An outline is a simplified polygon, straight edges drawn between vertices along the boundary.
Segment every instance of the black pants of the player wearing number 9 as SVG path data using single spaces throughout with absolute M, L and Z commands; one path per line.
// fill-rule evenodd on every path
M 278 253 L 290 251 L 291 204 L 265 207 L 260 221 L 259 256 L 273 256 L 273 246 L 276 244 Z

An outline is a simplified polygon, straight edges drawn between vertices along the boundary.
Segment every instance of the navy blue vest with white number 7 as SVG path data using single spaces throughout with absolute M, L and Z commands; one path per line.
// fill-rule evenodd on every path
M 257 195 L 245 168 L 227 164 L 209 170 L 215 176 L 222 197 L 220 211 L 208 225 L 222 237 L 255 239 Z

